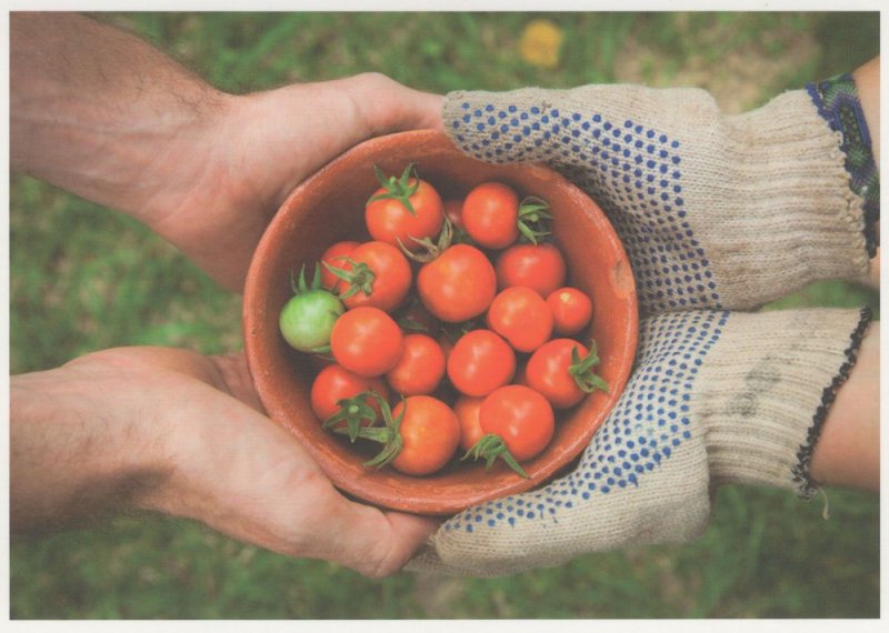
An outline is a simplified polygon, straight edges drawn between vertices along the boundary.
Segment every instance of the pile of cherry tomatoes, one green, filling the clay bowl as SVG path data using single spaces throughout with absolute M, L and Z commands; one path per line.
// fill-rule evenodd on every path
M 461 450 L 527 476 L 557 413 L 608 389 L 575 338 L 593 307 L 567 285 L 549 205 L 495 181 L 446 201 L 412 164 L 377 178 L 369 239 L 331 244 L 311 281 L 303 265 L 280 314 L 292 348 L 327 359 L 312 410 L 381 444 L 368 466 L 423 475 Z

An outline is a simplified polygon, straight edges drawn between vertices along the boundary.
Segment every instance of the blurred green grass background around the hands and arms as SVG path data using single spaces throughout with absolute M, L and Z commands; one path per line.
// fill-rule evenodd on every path
M 380 71 L 416 88 L 698 86 L 739 112 L 879 53 L 879 14 L 102 13 L 221 89 Z M 542 21 L 542 22 L 541 22 Z M 542 26 L 541 26 L 542 24 Z M 536 37 L 527 41 L 523 37 Z M 10 189 L 10 362 L 121 344 L 240 348 L 240 301 L 140 224 L 32 179 Z M 870 304 L 818 283 L 778 305 Z M 725 488 L 687 546 L 590 554 L 497 580 L 382 581 L 194 523 L 121 516 L 11 544 L 13 619 L 876 617 L 879 499 Z

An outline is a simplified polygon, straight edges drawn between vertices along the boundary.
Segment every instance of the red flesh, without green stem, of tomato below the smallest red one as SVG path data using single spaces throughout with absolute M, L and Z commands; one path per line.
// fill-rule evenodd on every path
M 531 354 L 526 368 L 528 385 L 539 391 L 556 409 L 568 409 L 583 400 L 586 393 L 569 373 L 572 351 L 583 359 L 588 349 L 573 339 L 553 339 Z

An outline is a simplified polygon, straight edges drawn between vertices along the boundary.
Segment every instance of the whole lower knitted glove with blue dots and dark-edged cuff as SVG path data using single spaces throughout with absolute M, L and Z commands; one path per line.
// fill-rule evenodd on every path
M 809 459 L 867 312 L 662 313 L 576 470 L 448 520 L 409 569 L 493 576 L 585 552 L 687 542 L 721 483 L 812 493 Z

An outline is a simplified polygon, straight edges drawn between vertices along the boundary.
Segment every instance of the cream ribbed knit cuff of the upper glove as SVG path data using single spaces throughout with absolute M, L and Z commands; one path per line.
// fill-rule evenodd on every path
M 725 122 L 728 143 L 699 165 L 710 170 L 710 187 L 721 175 L 733 188 L 712 195 L 712 213 L 701 220 L 712 258 L 725 264 L 715 270 L 717 284 L 743 279 L 741 294 L 772 300 L 816 280 L 862 279 L 863 201 L 808 94 L 786 92 Z

